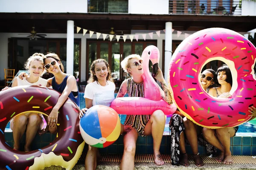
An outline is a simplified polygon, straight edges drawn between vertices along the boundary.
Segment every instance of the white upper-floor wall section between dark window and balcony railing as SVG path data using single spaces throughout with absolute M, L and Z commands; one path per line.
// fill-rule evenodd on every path
M 130 14 L 168 14 L 169 0 L 129 0 Z

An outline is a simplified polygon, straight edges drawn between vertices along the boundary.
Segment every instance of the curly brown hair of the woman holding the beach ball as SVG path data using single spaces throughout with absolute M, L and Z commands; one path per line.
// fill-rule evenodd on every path
M 95 74 L 95 65 L 99 62 L 104 62 L 105 63 L 105 65 L 107 66 L 107 69 L 108 69 L 107 81 L 113 82 L 113 79 L 112 79 L 112 76 L 111 76 L 111 70 L 109 68 L 109 64 L 105 59 L 96 59 L 96 60 L 93 61 L 93 63 L 91 64 L 91 67 L 90 67 L 90 78 L 89 78 L 88 82 L 98 81 L 98 78 L 94 74 Z

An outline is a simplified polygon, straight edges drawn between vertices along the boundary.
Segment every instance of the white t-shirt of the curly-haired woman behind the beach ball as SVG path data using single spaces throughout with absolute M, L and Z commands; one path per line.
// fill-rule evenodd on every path
M 113 99 L 115 99 L 115 84 L 107 81 L 106 86 L 101 86 L 95 82 L 86 85 L 84 90 L 84 98 L 92 99 L 94 105 L 110 106 Z

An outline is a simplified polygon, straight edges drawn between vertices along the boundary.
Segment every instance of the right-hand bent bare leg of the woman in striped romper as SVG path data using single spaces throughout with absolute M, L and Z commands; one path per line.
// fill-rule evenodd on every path
M 154 161 L 157 165 L 163 165 L 164 161 L 160 153 L 160 144 L 163 137 L 163 130 L 165 126 L 165 116 L 163 111 L 157 110 L 151 115 L 150 120 L 144 129 L 144 135 L 153 136 L 153 150 L 154 150 Z

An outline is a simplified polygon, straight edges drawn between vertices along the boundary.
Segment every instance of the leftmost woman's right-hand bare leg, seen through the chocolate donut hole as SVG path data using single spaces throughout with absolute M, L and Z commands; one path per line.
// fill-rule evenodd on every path
M 36 113 L 32 113 L 29 115 L 29 119 L 28 119 L 28 125 L 26 128 L 26 143 L 25 143 L 25 147 L 24 147 L 24 151 L 30 151 L 31 148 L 31 143 L 33 141 L 33 139 L 35 138 L 36 133 L 38 132 L 38 130 L 44 127 L 44 122 L 41 118 L 41 116 L 39 116 Z

